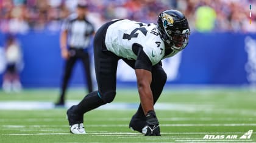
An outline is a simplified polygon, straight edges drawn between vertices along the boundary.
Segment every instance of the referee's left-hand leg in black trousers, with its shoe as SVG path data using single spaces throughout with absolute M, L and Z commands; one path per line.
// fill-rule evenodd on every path
M 65 103 L 65 93 L 66 93 L 66 88 L 68 87 L 68 82 L 71 77 L 72 71 L 74 64 L 76 62 L 77 58 L 76 57 L 70 57 L 69 59 L 66 60 L 65 63 L 65 68 L 64 68 L 64 74 L 63 74 L 63 79 L 62 79 L 62 88 L 61 88 L 61 93 L 60 93 L 60 98 L 59 101 L 55 105 L 64 105 Z

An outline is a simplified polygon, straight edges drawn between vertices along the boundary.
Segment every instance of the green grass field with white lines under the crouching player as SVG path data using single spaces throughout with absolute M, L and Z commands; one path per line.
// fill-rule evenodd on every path
M 58 95 L 59 89 L 29 89 L 19 94 L 0 90 L 0 142 L 256 142 L 255 133 L 250 139 L 240 139 L 249 130 L 256 132 L 256 92 L 246 88 L 163 91 L 155 107 L 162 132 L 157 137 L 128 128 L 139 100 L 135 88 L 118 90 L 109 104 L 114 108 L 87 113 L 87 135 L 69 133 L 66 108 L 25 110 L 22 106 L 30 102 L 49 105 Z M 71 88 L 67 101 L 79 102 L 84 95 L 85 90 Z M 10 108 L 15 107 L 13 101 L 20 101 L 21 107 L 1 106 L 8 102 Z M 119 108 L 126 104 L 131 108 Z

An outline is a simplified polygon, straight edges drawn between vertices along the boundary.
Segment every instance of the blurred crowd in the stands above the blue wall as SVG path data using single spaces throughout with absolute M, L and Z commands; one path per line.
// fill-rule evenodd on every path
M 26 33 L 29 30 L 59 31 L 66 16 L 80 0 L 0 0 L 0 30 Z M 109 19 L 156 22 L 158 13 L 174 8 L 187 16 L 191 30 L 199 32 L 256 32 L 254 0 L 84 0 L 88 19 L 99 28 Z M 252 10 L 249 5 L 252 5 Z M 252 18 L 249 13 L 252 12 Z M 252 23 L 249 23 L 252 19 Z

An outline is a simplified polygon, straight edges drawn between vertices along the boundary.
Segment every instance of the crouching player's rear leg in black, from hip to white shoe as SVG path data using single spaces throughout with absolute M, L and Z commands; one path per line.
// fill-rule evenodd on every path
M 99 90 L 89 93 L 79 104 L 73 105 L 68 109 L 67 115 L 72 133 L 80 133 L 77 130 L 77 125 L 84 126 L 82 124 L 84 122 L 84 113 L 112 102 L 116 95 L 116 68 L 119 58 L 113 53 L 104 50 L 106 49 L 104 44 L 106 30 L 107 27 L 103 26 L 94 36 L 94 67 Z

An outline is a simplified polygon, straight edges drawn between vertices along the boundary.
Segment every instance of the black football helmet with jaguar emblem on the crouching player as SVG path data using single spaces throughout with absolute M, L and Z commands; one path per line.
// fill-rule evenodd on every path
M 165 10 L 158 16 L 158 30 L 168 47 L 183 50 L 188 44 L 190 26 L 187 18 L 178 10 Z

